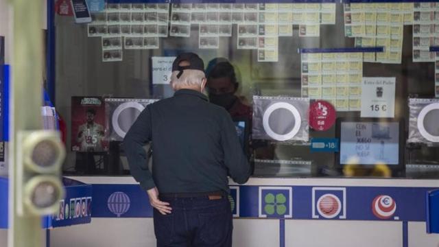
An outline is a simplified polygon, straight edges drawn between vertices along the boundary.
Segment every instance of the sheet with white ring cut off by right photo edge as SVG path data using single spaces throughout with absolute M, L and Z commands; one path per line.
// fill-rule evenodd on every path
M 409 99 L 409 143 L 439 144 L 439 99 Z

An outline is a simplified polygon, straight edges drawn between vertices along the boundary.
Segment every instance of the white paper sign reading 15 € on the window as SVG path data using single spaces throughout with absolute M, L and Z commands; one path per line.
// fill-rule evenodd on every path
M 361 117 L 394 117 L 395 78 L 363 78 Z

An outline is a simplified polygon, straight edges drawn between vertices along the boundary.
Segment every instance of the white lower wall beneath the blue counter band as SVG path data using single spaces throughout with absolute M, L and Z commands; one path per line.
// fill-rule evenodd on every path
M 278 220 L 233 221 L 233 246 L 279 246 Z M 353 220 L 286 220 L 286 247 L 401 247 L 402 222 Z M 2 245 L 0 231 L 0 246 Z M 150 218 L 93 218 L 91 224 L 51 230 L 51 247 L 154 247 Z M 439 235 L 425 233 L 425 222 L 409 222 L 409 247 L 438 247 Z

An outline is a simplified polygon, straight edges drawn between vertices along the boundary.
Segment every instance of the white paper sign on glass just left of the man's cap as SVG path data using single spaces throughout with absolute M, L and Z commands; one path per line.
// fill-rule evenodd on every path
M 172 62 L 176 57 L 152 57 L 152 84 L 171 82 Z

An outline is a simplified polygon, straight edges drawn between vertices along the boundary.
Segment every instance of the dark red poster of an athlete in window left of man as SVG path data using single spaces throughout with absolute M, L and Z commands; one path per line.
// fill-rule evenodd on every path
M 102 97 L 71 97 L 71 150 L 105 152 L 105 104 Z

